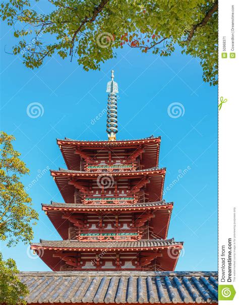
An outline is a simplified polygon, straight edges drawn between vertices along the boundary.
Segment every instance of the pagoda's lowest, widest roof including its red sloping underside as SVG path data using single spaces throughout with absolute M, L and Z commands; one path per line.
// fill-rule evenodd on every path
M 148 256 L 152 252 L 162 252 L 160 257 L 156 258 L 160 264 L 160 270 L 174 270 L 180 252 L 183 249 L 183 242 L 176 242 L 171 239 L 140 239 L 135 241 L 78 241 L 78 240 L 40 240 L 39 243 L 32 243 L 31 249 L 37 252 L 37 255 L 53 270 L 60 271 L 61 254 L 65 256 L 75 256 L 75 253 L 94 254 L 107 253 L 112 254 L 132 254 L 136 255 L 147 252 Z M 146 255 L 147 256 L 147 255 Z M 144 254 L 145 257 L 145 254 Z M 89 268 L 91 269 L 91 268 Z M 131 269 L 131 268 L 130 268 Z

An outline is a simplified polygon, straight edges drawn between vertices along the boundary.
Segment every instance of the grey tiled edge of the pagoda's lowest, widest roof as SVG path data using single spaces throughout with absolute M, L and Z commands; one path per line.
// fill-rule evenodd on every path
M 31 249 L 49 249 L 49 250 L 67 250 L 67 251 L 92 251 L 92 250 L 152 250 L 165 248 L 179 248 L 182 249 L 183 241 L 174 241 L 171 239 L 140 239 L 137 241 L 78 241 L 78 240 L 43 240 L 39 243 L 31 243 Z

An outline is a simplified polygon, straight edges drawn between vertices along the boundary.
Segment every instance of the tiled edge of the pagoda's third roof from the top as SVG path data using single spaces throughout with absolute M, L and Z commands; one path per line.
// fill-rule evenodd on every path
M 166 203 L 163 201 L 158 202 L 143 202 L 136 204 L 74 204 L 74 203 L 56 203 L 42 204 L 43 210 L 70 210 L 70 211 L 100 211 L 100 210 L 141 210 L 141 209 L 158 209 L 158 208 L 172 208 L 173 202 Z

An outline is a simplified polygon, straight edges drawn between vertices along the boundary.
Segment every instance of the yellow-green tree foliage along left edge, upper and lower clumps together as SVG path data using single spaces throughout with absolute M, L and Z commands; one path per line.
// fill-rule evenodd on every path
M 19 241 L 28 243 L 33 238 L 32 225 L 38 214 L 31 207 L 31 198 L 24 190 L 20 177 L 29 173 L 26 164 L 14 150 L 13 136 L 0 134 L 0 240 L 7 246 L 15 246 Z M 14 260 L 3 261 L 0 253 L 0 303 L 23 302 L 27 287 L 16 274 Z

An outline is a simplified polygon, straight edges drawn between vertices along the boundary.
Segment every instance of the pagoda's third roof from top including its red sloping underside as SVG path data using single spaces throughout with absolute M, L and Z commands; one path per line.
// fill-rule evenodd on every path
M 42 204 L 42 209 L 46 212 L 48 218 L 54 225 L 55 229 L 63 239 L 68 239 L 69 220 L 63 216 L 67 213 L 69 217 L 91 213 L 91 215 L 101 215 L 108 219 L 109 215 L 126 215 L 136 213 L 137 217 L 144 215 L 145 212 L 154 214 L 150 220 L 149 232 L 153 233 L 154 238 L 167 238 L 168 226 L 171 217 L 173 203 L 158 202 L 142 202 L 135 204 L 74 204 L 74 203 L 51 203 Z M 81 214 L 80 214 L 81 213 Z M 66 215 L 65 215 L 66 216 Z M 136 218 L 137 219 L 137 218 Z

